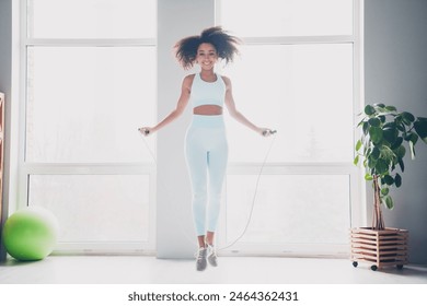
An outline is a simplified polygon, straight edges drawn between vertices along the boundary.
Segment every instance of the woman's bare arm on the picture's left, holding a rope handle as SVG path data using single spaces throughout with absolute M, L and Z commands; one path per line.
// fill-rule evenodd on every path
M 172 121 L 174 121 L 176 118 L 178 118 L 183 113 L 185 107 L 188 104 L 189 101 L 189 94 L 193 84 L 194 74 L 187 75 L 183 80 L 183 84 L 181 86 L 181 96 L 178 98 L 178 102 L 176 104 L 176 108 L 172 110 L 162 121 L 160 121 L 154 127 L 143 127 L 140 128 L 139 131 L 143 133 L 145 136 L 148 136 L 150 133 L 157 132 L 163 127 L 168 126 Z

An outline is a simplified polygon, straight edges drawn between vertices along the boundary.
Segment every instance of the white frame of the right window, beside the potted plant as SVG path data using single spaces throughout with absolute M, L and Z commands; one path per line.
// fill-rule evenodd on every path
M 216 0 L 216 23 L 221 24 L 221 1 Z M 307 45 L 307 44 L 353 44 L 354 58 L 354 96 L 353 96 L 353 126 L 357 125 L 357 114 L 363 108 L 363 0 L 354 0 L 353 35 L 327 36 L 280 36 L 280 37 L 240 37 L 245 45 Z M 353 143 L 359 132 L 355 129 Z M 258 175 L 261 163 L 230 163 L 229 175 Z M 349 202 L 350 225 L 366 224 L 366 184 L 361 167 L 356 167 L 353 161 L 347 163 L 266 163 L 263 175 L 348 175 L 349 176 Z M 227 192 L 227 191 L 226 191 Z M 226 220 L 227 209 L 222 210 L 221 220 Z M 221 231 L 220 245 L 227 245 L 227 232 Z M 349 245 L 301 246 L 301 245 L 272 245 L 250 244 L 236 242 L 232 247 L 221 250 L 223 255 L 255 255 L 255 256 L 302 256 L 302 257 L 348 257 Z

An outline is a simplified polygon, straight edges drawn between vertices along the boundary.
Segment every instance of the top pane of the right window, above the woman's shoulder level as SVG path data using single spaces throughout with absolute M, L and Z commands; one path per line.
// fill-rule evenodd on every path
M 353 34 L 351 0 L 223 0 L 220 8 L 224 28 L 243 37 Z

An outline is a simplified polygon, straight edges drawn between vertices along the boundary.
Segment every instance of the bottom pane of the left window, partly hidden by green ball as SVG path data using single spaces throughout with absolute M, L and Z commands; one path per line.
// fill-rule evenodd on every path
M 30 205 L 49 209 L 59 242 L 147 242 L 148 175 L 31 175 Z

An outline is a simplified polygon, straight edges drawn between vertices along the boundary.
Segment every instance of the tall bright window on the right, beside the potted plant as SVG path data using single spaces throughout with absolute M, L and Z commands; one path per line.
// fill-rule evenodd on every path
M 353 165 L 360 103 L 359 1 L 217 3 L 218 24 L 244 43 L 241 57 L 222 69 L 233 82 L 236 106 L 278 131 L 275 140 L 263 139 L 228 121 L 221 244 L 244 233 L 229 251 L 347 252 L 348 229 L 360 217 L 360 174 Z

